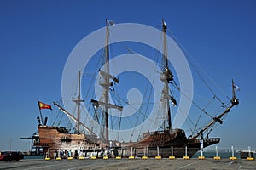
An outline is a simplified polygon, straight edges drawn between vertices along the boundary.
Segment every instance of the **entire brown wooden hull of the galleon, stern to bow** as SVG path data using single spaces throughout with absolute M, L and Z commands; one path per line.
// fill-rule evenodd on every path
M 76 133 L 68 133 L 65 127 L 50 127 L 50 126 L 38 126 L 38 141 L 34 142 L 34 146 L 44 148 L 44 153 L 49 157 L 54 157 L 55 152 L 71 151 L 72 156 L 75 156 L 76 151 L 81 151 L 84 156 L 88 156 L 87 153 L 95 152 L 96 156 L 106 150 L 109 144 L 104 144 L 102 141 L 96 140 L 95 135 L 84 135 Z M 202 139 L 203 147 L 207 147 L 212 144 L 218 144 L 220 139 Z M 186 149 L 187 147 L 187 149 Z M 113 144 L 112 154 L 113 156 L 194 156 L 195 153 L 201 150 L 201 139 L 187 139 L 182 129 L 176 129 L 170 133 L 165 132 L 153 132 L 144 133 L 143 139 L 133 143 L 117 143 Z M 131 153 L 133 150 L 133 154 Z M 187 150 L 187 154 L 186 154 Z M 66 154 L 67 155 L 67 154 Z

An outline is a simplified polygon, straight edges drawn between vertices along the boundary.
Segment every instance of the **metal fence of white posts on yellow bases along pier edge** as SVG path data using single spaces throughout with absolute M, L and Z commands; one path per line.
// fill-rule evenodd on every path
M 230 146 L 230 148 L 210 148 L 210 149 L 198 149 L 198 148 L 161 148 L 161 147 L 125 147 L 125 148 L 112 148 L 109 150 L 49 150 L 45 153 L 45 157 L 56 158 L 61 157 L 61 159 L 66 159 L 67 157 L 73 158 L 103 158 L 108 156 L 108 158 L 129 158 L 130 156 L 134 158 L 142 158 L 143 156 L 155 157 L 159 156 L 161 158 L 168 158 L 170 156 L 176 158 L 182 158 L 187 156 L 189 158 L 198 158 L 203 156 L 205 158 L 222 157 L 230 158 L 236 157 L 237 159 L 243 159 L 247 157 L 256 156 L 255 149 L 250 147 L 246 148 L 235 148 Z

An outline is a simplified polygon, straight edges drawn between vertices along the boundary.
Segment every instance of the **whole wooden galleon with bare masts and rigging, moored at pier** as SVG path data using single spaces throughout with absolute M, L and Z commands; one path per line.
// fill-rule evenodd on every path
M 222 124 L 224 122 L 224 116 L 234 106 L 239 104 L 239 100 L 236 99 L 237 86 L 233 80 L 231 83 L 232 97 L 231 99 L 228 98 L 228 102 L 225 103 L 222 99 L 218 98 L 218 95 L 213 92 L 209 84 L 202 78 L 200 71 L 196 70 L 195 73 L 199 74 L 199 78 L 211 94 L 210 101 L 206 106 L 202 107 L 195 103 L 194 99 L 188 99 L 194 105 L 194 109 L 192 108 L 193 111 L 196 109 L 199 112 L 198 119 L 193 119 L 195 116 L 193 118 L 187 117 L 190 125 L 193 125 L 193 127 L 188 126 L 189 130 L 184 130 L 181 127 L 173 127 L 172 111 L 177 111 L 177 109 L 173 108 L 179 107 L 178 101 L 181 95 L 184 95 L 186 98 L 189 97 L 182 91 L 182 88 L 179 88 L 180 83 L 176 81 L 175 77 L 177 74 L 172 71 L 172 65 L 169 61 L 170 56 L 167 53 L 168 38 L 166 38 L 166 32 L 169 30 L 166 22 L 162 20 L 160 31 L 160 47 L 162 48 L 162 53 L 157 54 L 158 61 L 155 61 L 157 65 L 160 65 L 160 71 L 154 73 L 157 75 L 154 78 L 158 78 L 161 82 L 162 88 L 154 89 L 159 91 L 156 94 L 160 95 L 160 101 L 157 101 L 157 104 L 155 104 L 151 99 L 155 97 L 152 95 L 151 88 L 153 86 L 145 86 L 143 91 L 144 98 L 140 102 L 141 105 L 139 107 L 137 106 L 137 101 L 127 101 L 127 99 L 122 98 L 124 96 L 119 95 L 118 92 L 122 89 L 117 90 L 117 86 L 121 84 L 121 78 L 118 75 L 112 75 L 112 63 L 110 60 L 114 56 L 110 52 L 110 46 L 112 46 L 110 43 L 110 34 L 112 31 L 109 31 L 112 26 L 114 26 L 113 22 L 106 20 L 105 46 L 102 48 L 102 55 L 99 57 L 102 64 L 99 67 L 95 66 L 96 72 L 91 71 L 91 75 L 94 75 L 94 77 L 90 78 L 93 81 L 90 82 L 88 78 L 90 71 L 88 73 L 79 70 L 78 76 L 75 76 L 77 80 L 77 86 L 75 87 L 76 97 L 69 100 L 75 104 L 75 111 L 71 113 L 65 110 L 60 104 L 54 102 L 55 107 L 73 122 L 75 130 L 71 133 L 67 127 L 49 126 L 47 125 L 47 119 L 44 120 L 43 116 L 41 116 L 41 119 L 38 117 L 39 138 L 34 141 L 34 145 L 43 147 L 44 152 L 48 156 L 54 156 L 57 152 L 59 155 L 60 153 L 64 153 L 64 155 L 69 156 L 181 157 L 194 156 L 202 148 L 206 148 L 212 144 L 218 144 L 220 138 L 210 137 L 213 127 Z M 126 50 L 133 55 L 137 55 L 136 50 L 131 48 L 126 48 Z M 175 56 L 171 57 L 174 58 Z M 96 62 L 91 63 L 93 65 Z M 115 67 L 119 67 L 119 65 L 115 65 Z M 150 70 L 154 71 L 154 68 Z M 98 76 L 96 77 L 95 75 Z M 81 82 L 83 77 L 87 78 L 85 80 L 87 85 Z M 90 90 L 96 83 L 101 89 L 101 93 L 97 95 L 94 90 Z M 81 88 L 84 86 L 85 90 L 83 91 Z M 175 94 L 175 90 L 180 96 Z M 83 93 L 84 95 L 82 95 Z M 85 96 L 85 99 L 82 99 L 82 96 Z M 210 113 L 208 110 L 210 110 L 210 105 L 213 102 L 218 104 L 218 110 Z M 156 111 L 157 113 L 154 113 L 157 116 L 155 116 L 156 118 L 154 120 L 149 120 L 152 126 L 143 127 L 144 120 L 149 119 L 148 110 L 152 110 L 152 105 L 158 105 L 159 109 Z M 130 110 L 129 108 L 127 109 L 128 106 Z M 90 109 L 85 111 L 85 107 Z M 128 116 L 127 113 L 125 116 L 122 116 L 122 112 L 131 111 L 132 109 L 136 110 L 135 114 L 133 114 L 134 116 L 129 115 L 129 113 Z M 182 108 L 178 109 L 182 110 Z M 202 118 L 203 116 L 205 116 L 204 119 Z M 90 122 L 90 119 L 93 123 Z M 145 129 L 148 130 L 145 131 Z M 137 139 L 134 139 L 135 135 L 137 135 Z

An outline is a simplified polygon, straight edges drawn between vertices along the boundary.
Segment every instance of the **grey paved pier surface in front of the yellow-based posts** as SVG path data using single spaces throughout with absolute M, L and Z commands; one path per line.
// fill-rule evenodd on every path
M 206 160 L 198 159 L 161 159 L 154 158 L 148 160 L 129 160 L 129 159 L 96 159 L 96 160 L 20 160 L 12 162 L 0 162 L 0 169 L 70 169 L 70 170 L 88 170 L 88 169 L 113 169 L 113 170 L 130 170 L 130 169 L 175 169 L 175 170 L 233 170 L 233 169 L 250 169 L 256 170 L 256 161 L 221 159 L 213 160 L 207 158 Z

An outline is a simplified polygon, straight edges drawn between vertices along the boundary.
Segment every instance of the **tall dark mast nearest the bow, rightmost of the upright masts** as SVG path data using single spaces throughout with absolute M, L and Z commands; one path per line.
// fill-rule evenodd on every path
M 170 99 L 172 98 L 169 94 L 169 82 L 171 82 L 173 80 L 173 75 L 172 72 L 170 71 L 169 67 L 168 67 L 168 55 L 167 55 L 167 43 L 166 43 L 166 22 L 164 20 L 162 20 L 162 32 L 164 35 L 164 47 L 163 47 L 163 62 L 165 65 L 164 71 L 163 71 L 163 75 L 164 78 L 162 79 L 162 81 L 165 83 L 164 85 L 164 90 L 163 90 L 163 95 L 164 95 L 164 100 L 166 101 L 166 105 L 165 105 L 165 111 L 167 112 L 167 123 L 169 126 L 169 130 L 172 130 L 172 121 L 171 121 L 171 109 L 170 109 Z

